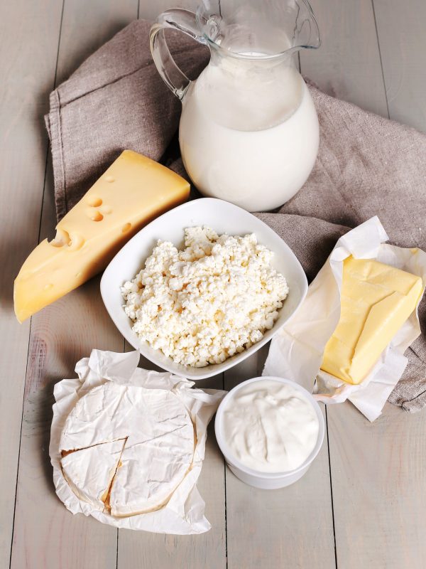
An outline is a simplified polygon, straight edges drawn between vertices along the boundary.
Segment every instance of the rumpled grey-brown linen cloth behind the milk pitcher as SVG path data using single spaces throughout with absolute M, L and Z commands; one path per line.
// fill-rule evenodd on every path
M 61 218 L 123 149 L 160 160 L 178 128 L 180 102 L 163 84 L 148 43 L 150 23 L 116 34 L 50 95 L 45 117 Z M 178 65 L 196 76 L 209 53 L 170 34 Z M 426 137 L 310 85 L 320 119 L 320 151 L 305 186 L 278 213 L 258 213 L 295 251 L 312 280 L 336 240 L 377 214 L 391 242 L 426 249 Z M 175 156 L 177 157 L 177 156 Z M 171 166 L 186 176 L 182 161 Z M 426 406 L 426 301 L 422 335 L 389 400 Z

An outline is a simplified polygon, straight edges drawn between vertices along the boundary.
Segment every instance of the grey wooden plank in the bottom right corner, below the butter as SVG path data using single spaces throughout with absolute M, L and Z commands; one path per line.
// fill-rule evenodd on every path
M 371 424 L 344 403 L 328 415 L 338 566 L 425 567 L 425 413 L 387 404 Z

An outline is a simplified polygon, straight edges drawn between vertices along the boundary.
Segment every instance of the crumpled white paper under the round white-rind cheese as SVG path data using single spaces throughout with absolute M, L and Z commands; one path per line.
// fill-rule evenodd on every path
M 185 378 L 168 372 L 158 373 L 138 368 L 139 356 L 138 351 L 114 353 L 93 350 L 89 358 L 77 362 L 75 371 L 78 378 L 63 379 L 55 385 L 56 403 L 53 405 L 49 453 L 56 494 L 72 514 L 93 516 L 110 526 L 180 535 L 203 533 L 211 526 L 204 517 L 204 501 L 196 484 L 204 459 L 207 425 L 226 391 L 194 389 L 194 382 Z M 195 425 L 197 443 L 192 469 L 173 492 L 168 503 L 157 511 L 126 518 L 116 518 L 97 511 L 92 504 L 77 498 L 62 474 L 59 445 L 65 420 L 82 395 L 107 381 L 121 385 L 141 385 L 148 389 L 170 389 L 184 403 Z

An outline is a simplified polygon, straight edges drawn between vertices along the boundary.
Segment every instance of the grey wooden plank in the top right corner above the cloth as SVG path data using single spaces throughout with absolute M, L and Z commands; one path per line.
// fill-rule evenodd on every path
M 426 3 L 373 0 L 389 116 L 426 132 Z

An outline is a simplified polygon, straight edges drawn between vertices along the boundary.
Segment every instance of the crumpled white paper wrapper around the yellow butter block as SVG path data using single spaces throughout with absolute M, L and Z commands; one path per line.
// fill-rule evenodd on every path
M 302 306 L 274 336 L 263 369 L 264 376 L 296 381 L 324 403 L 342 403 L 349 399 L 368 420 L 378 418 L 407 366 L 408 360 L 403 354 L 420 334 L 417 308 L 359 385 L 331 376 L 320 370 L 320 366 L 324 347 L 340 318 L 343 261 L 346 257 L 376 259 L 418 275 L 422 277 L 425 291 L 426 253 L 417 248 L 394 247 L 386 244 L 387 240 L 388 235 L 375 216 L 337 241 L 327 262 L 312 281 Z

